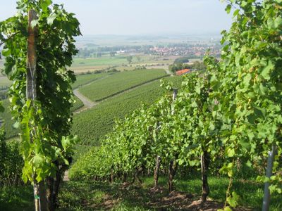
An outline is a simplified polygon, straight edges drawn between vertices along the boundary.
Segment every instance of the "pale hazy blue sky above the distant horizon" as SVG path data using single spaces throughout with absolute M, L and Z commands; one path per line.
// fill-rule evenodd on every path
M 76 14 L 82 34 L 203 34 L 227 30 L 231 15 L 219 0 L 54 0 Z M 0 0 L 0 20 L 16 0 Z

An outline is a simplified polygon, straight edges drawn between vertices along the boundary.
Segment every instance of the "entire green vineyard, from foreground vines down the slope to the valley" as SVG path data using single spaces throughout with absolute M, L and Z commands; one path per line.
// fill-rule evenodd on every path
M 282 210 L 282 1 L 226 2 L 233 24 L 207 70 L 75 82 L 74 14 L 18 1 L 0 22 L 13 80 L 0 101 L 0 210 Z

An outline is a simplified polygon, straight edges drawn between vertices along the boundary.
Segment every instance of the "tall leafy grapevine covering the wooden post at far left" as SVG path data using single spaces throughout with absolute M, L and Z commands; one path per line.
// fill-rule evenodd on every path
M 75 75 L 66 66 L 78 53 L 73 37 L 80 35 L 79 23 L 51 3 L 20 0 L 17 15 L 0 23 L 4 71 L 13 80 L 12 115 L 21 130 L 23 180 L 34 185 L 36 210 L 55 209 L 76 141 L 70 134 Z

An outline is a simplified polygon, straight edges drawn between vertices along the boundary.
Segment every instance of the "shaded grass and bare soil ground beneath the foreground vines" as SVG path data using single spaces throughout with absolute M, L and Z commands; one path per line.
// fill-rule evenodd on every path
M 59 210 L 178 210 L 199 200 L 201 194 L 200 175 L 176 178 L 176 193 L 168 194 L 167 178 L 159 178 L 159 191 L 152 191 L 152 177 L 142 177 L 142 186 L 97 181 L 68 181 L 59 194 Z M 209 177 L 210 202 L 222 207 L 228 186 L 226 177 Z M 256 181 L 235 179 L 233 190 L 239 194 L 239 207 L 261 210 L 263 185 Z M 173 196 L 188 196 L 179 199 Z M 282 209 L 281 196 L 271 196 L 272 211 Z M 193 210 L 190 208 L 190 210 Z M 237 209 L 235 209 L 237 210 Z

